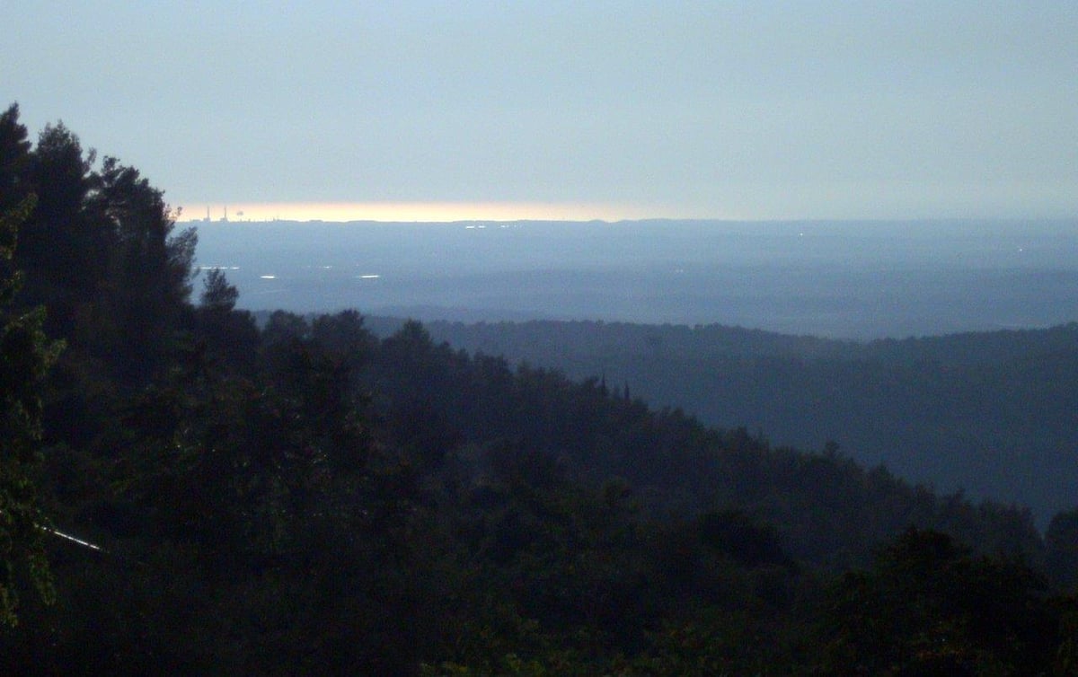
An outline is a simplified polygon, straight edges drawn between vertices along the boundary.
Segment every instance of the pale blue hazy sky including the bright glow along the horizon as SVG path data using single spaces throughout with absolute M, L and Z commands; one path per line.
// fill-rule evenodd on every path
M 5 2 L 181 219 L 1078 217 L 1078 2 Z M 240 216 L 243 212 L 243 216 Z

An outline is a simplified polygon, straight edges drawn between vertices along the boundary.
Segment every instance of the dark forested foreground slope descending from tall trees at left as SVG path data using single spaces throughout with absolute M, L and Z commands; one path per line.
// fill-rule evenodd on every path
M 61 125 L 34 148 L 2 122 L 0 185 L 38 201 L 14 258 L 31 341 L 4 364 L 34 365 L 41 461 L 3 454 L 55 527 L 5 536 L 47 545 L 55 590 L 11 568 L 5 674 L 1074 669 L 1073 515 L 1046 552 L 1026 511 L 415 322 L 259 324 L 217 271 L 193 304 L 160 191 Z

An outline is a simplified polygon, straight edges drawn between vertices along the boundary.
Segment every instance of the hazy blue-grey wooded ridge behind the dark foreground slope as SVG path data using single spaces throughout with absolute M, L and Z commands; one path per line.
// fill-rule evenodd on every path
M 399 320 L 370 318 L 379 332 Z M 734 327 L 592 321 L 427 323 L 438 341 L 627 386 L 653 406 L 833 441 L 940 491 L 1031 506 L 1046 524 L 1078 500 L 1078 324 L 833 341 Z

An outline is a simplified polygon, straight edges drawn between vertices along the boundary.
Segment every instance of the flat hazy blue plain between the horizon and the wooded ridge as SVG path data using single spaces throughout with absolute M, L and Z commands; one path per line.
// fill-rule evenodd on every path
M 198 265 L 224 268 L 250 309 L 858 340 L 1078 319 L 1076 221 L 193 225 Z

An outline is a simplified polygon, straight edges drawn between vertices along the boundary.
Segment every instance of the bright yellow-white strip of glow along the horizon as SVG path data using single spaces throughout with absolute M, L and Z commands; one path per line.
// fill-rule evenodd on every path
M 715 218 L 683 210 L 598 203 L 237 203 L 184 205 L 180 220 L 220 221 L 622 221 L 654 218 Z M 208 209 L 208 211 L 207 211 Z M 734 218 L 723 215 L 722 219 Z

